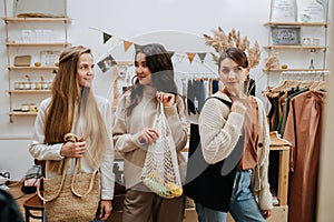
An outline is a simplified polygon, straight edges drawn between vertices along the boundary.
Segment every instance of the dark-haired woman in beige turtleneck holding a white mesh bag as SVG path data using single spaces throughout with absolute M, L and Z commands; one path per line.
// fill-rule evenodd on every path
M 135 84 L 120 98 L 112 129 L 115 149 L 125 158 L 127 190 L 122 221 L 181 222 L 185 196 L 161 198 L 140 181 L 148 144 L 159 137 L 151 128 L 158 102 L 164 104 L 176 144 L 180 176 L 185 179 L 185 159 L 180 153 L 187 143 L 185 105 L 177 95 L 171 59 L 163 46 L 147 44 L 137 49 L 135 68 Z

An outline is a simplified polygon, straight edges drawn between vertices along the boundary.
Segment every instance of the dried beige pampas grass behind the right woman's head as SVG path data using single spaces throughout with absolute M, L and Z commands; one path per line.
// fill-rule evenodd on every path
M 203 34 L 205 39 L 205 43 L 215 49 L 218 53 L 212 53 L 215 62 L 218 62 L 219 54 L 227 48 L 236 47 L 242 49 L 248 57 L 249 68 L 255 68 L 259 63 L 261 59 L 261 50 L 259 44 L 255 41 L 254 46 L 250 47 L 249 40 L 247 36 L 242 38 L 240 32 L 232 29 L 229 33 L 225 33 L 225 31 L 218 27 L 217 30 L 213 30 L 214 36 L 210 37 L 208 34 Z

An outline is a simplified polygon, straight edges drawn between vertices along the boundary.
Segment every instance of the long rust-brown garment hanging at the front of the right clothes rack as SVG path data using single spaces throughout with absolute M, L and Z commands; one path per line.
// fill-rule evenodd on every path
M 326 93 L 306 91 L 292 99 L 284 139 L 292 143 L 288 221 L 315 221 L 322 114 Z

